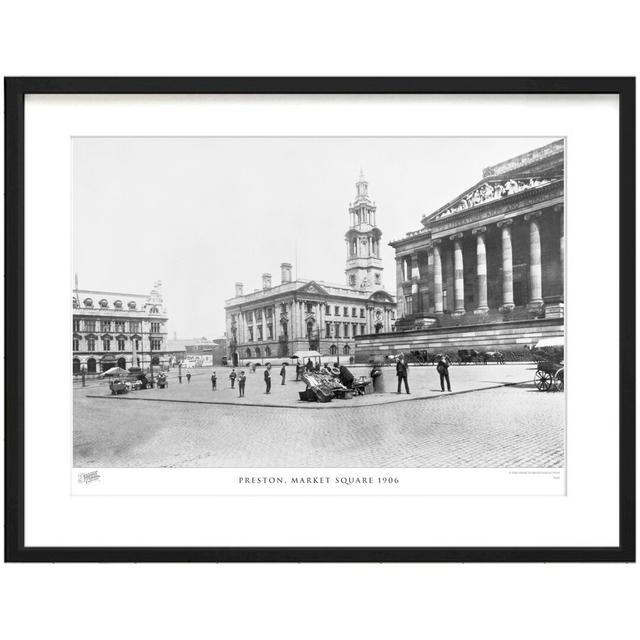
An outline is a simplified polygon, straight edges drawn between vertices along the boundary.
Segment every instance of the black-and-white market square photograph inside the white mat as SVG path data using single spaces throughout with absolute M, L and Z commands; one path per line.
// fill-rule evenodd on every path
M 74 138 L 73 466 L 563 470 L 569 151 Z

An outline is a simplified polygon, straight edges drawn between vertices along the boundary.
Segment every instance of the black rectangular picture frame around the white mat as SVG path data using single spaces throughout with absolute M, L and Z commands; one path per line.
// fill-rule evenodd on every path
M 5 78 L 6 562 L 634 562 L 635 78 Z M 26 547 L 24 103 L 27 94 L 616 94 L 620 149 L 619 531 L 613 547 Z M 624 310 L 624 313 L 622 311 Z

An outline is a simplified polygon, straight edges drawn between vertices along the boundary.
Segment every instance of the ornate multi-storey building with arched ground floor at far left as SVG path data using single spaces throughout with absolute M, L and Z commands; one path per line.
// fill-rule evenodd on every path
M 73 373 L 168 365 L 167 320 L 160 282 L 147 295 L 76 289 Z

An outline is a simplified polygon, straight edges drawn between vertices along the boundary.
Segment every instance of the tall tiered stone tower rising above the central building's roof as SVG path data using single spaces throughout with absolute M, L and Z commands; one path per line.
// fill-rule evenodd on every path
M 369 183 L 362 170 L 356 182 L 356 199 L 349 203 L 349 230 L 345 235 L 347 284 L 354 289 L 382 289 L 380 239 L 376 205 L 369 198 Z

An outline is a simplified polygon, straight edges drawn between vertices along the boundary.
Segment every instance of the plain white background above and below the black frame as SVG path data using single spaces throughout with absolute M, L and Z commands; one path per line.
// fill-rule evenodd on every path
M 490 3 L 6 3 L 3 75 L 635 75 L 637 11 Z M 11 638 L 602 638 L 637 565 L 0 568 Z M 8 633 L 7 633 L 8 632 Z

